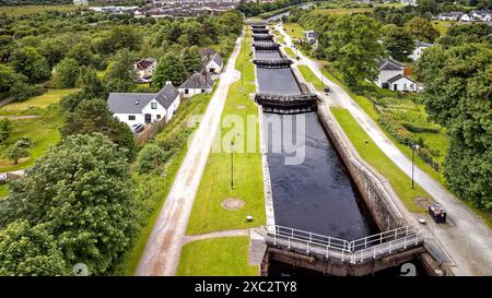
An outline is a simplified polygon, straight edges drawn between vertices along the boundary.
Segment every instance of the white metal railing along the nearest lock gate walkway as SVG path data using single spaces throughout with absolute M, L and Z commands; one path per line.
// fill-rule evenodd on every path
M 418 246 L 425 241 L 425 236 L 413 226 L 405 226 L 348 241 L 276 225 L 267 226 L 267 239 L 274 246 L 302 250 L 307 254 L 321 254 L 327 259 L 336 258 L 342 262 L 349 261 L 355 264 Z

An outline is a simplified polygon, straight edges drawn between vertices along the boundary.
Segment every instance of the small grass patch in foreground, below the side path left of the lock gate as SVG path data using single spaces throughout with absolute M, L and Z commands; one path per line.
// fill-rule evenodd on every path
M 258 266 L 248 264 L 248 237 L 223 237 L 190 242 L 183 247 L 177 275 L 258 275 Z

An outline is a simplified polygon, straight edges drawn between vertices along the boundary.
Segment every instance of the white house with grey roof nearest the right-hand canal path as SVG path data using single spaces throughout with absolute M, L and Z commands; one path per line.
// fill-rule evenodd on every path
M 395 59 L 387 58 L 379 63 L 379 75 L 376 84 L 391 91 L 417 91 L 417 83 L 405 75 L 406 68 Z

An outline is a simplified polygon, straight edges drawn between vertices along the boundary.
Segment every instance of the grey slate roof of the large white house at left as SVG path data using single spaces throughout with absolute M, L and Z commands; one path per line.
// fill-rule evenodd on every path
M 159 93 L 109 93 L 107 105 L 114 114 L 141 114 L 152 99 L 167 109 L 178 95 L 173 84 L 166 84 Z

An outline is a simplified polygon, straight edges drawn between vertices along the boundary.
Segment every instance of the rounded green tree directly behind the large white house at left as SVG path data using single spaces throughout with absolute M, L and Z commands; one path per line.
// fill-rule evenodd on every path
M 179 86 L 186 80 L 187 73 L 180 55 L 167 52 L 159 60 L 154 71 L 152 83 L 157 87 L 163 87 L 166 81 Z

